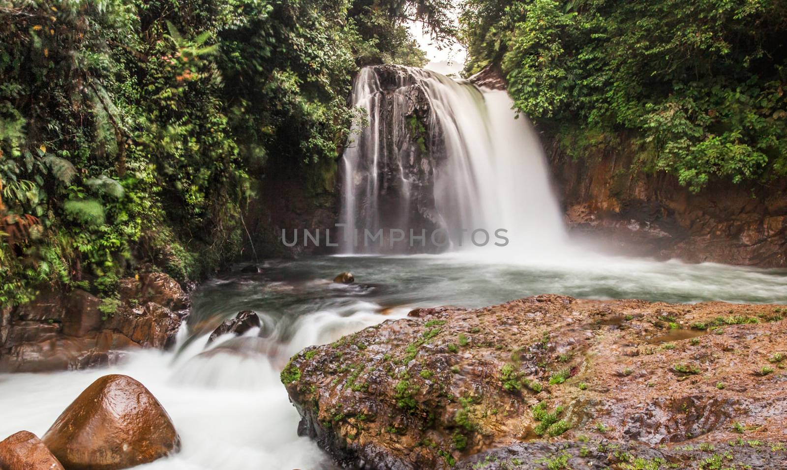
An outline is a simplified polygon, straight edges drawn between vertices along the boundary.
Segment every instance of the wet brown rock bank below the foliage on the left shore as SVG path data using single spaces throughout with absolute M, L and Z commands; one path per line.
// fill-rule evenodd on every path
M 0 316 L 0 370 L 43 372 L 110 365 L 121 351 L 172 345 L 188 314 L 189 298 L 161 273 L 120 280 L 112 314 L 89 292 L 46 289 L 31 303 Z

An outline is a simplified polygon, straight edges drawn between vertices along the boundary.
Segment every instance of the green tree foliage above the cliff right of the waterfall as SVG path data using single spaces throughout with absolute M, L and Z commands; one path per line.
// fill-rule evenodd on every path
M 785 2 L 469 0 L 466 72 L 509 93 L 568 153 L 633 136 L 635 169 L 696 192 L 787 174 Z

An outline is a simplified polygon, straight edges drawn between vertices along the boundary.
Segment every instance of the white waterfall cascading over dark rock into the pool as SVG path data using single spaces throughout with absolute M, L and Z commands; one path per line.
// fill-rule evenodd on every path
M 366 118 L 353 127 L 342 158 L 343 252 L 475 248 L 485 240 L 482 232 L 471 239 L 479 229 L 490 237 L 487 246 L 504 244 L 495 237 L 504 229 L 515 252 L 564 243 L 538 136 L 504 90 L 382 65 L 360 71 L 353 105 Z M 364 230 L 380 229 L 382 239 L 364 240 Z M 417 237 L 423 233 L 425 241 Z M 438 243 L 445 234 L 448 243 Z

